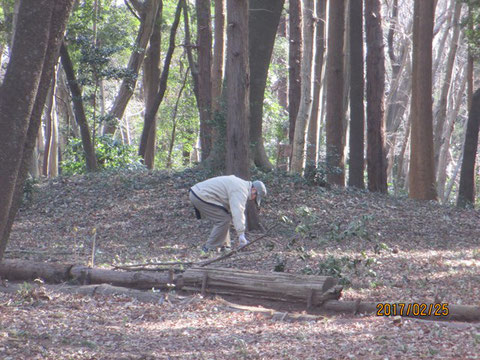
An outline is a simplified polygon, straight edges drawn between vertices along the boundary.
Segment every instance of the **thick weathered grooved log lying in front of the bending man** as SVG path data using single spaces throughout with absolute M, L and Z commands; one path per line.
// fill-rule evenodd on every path
M 202 294 L 241 295 L 255 298 L 303 302 L 307 308 L 326 300 L 338 299 L 341 287 L 329 276 L 310 276 L 286 273 L 257 273 L 252 271 L 193 267 L 177 280 L 184 290 Z

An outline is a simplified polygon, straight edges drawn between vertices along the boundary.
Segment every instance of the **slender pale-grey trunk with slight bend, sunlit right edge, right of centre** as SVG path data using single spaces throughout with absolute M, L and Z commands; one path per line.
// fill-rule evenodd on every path
M 290 171 L 301 174 L 305 163 L 305 138 L 312 111 L 312 58 L 313 58 L 313 22 L 314 2 L 303 2 L 303 56 L 301 65 L 300 107 L 295 120 L 293 137 L 292 164 Z

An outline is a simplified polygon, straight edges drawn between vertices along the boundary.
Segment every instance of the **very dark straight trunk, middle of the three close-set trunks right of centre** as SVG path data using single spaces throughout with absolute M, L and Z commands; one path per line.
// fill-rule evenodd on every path
M 350 156 L 348 185 L 365 188 L 364 171 L 364 68 L 363 0 L 350 0 Z

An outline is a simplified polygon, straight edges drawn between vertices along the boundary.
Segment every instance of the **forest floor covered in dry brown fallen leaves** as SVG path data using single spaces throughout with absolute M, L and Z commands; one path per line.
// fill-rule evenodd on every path
M 6 258 L 89 264 L 95 232 L 99 267 L 200 261 L 210 224 L 195 219 L 188 189 L 203 178 L 116 173 L 36 184 Z M 308 186 L 281 173 L 259 178 L 268 188 L 262 222 L 277 226 L 218 266 L 336 276 L 345 300 L 480 305 L 478 211 Z M 2 359 L 480 359 L 479 323 L 287 321 L 174 291 L 150 304 L 28 290 L 0 292 Z

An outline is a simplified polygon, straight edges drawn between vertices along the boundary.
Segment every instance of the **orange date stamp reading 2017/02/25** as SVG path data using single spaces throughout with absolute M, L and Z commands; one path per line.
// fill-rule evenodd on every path
M 448 303 L 378 303 L 377 316 L 447 316 Z

